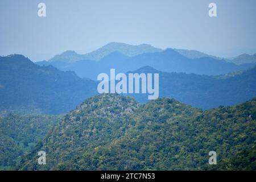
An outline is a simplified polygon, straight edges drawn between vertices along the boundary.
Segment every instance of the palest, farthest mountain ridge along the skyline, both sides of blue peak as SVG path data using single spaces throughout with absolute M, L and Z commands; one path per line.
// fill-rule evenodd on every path
M 112 43 L 106 44 L 101 48 L 96 49 L 96 51 L 92 51 L 85 54 L 79 54 L 79 53 L 76 53 L 75 51 L 65 51 L 60 55 L 53 56 L 48 61 L 50 63 L 51 62 L 54 63 L 56 61 L 57 62 L 64 61 L 66 63 L 74 63 L 76 61 L 81 61 L 81 60 L 98 61 L 104 58 L 105 56 L 108 56 L 112 52 L 120 52 L 125 56 L 133 57 L 133 56 L 141 55 L 143 53 L 154 53 L 154 52 L 162 52 L 162 51 L 164 50 L 160 48 L 152 47 L 149 44 L 140 44 L 138 46 L 133 46 L 125 43 L 112 42 Z M 196 51 L 196 50 L 174 48 L 174 51 L 180 53 L 180 55 L 183 55 L 188 59 L 210 57 L 213 59 L 225 60 L 226 62 L 234 63 L 237 65 L 256 62 L 255 55 L 248 55 L 248 54 L 243 54 L 233 58 L 221 58 L 221 57 L 208 55 L 207 53 Z M 49 64 L 47 63 L 48 61 L 43 61 L 43 62 L 41 61 L 41 63 L 39 64 L 42 64 L 42 63 Z

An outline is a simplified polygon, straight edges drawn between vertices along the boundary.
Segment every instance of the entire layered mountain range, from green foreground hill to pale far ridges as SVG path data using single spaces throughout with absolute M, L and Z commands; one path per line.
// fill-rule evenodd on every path
M 256 169 L 251 56 L 234 64 L 117 43 L 86 56 L 68 51 L 36 64 L 0 57 L 1 170 Z M 160 98 L 98 94 L 97 74 L 110 68 L 158 73 Z M 40 166 L 42 150 L 47 164 Z M 218 165 L 209 166 L 209 151 Z

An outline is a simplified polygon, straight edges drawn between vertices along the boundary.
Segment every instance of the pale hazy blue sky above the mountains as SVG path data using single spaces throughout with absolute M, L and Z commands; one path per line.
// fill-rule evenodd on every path
M 45 18 L 38 4 L 46 3 Z M 217 4 L 210 18 L 208 5 Z M 109 42 L 197 49 L 217 56 L 256 53 L 255 0 L 0 0 L 0 55 L 34 61 Z

